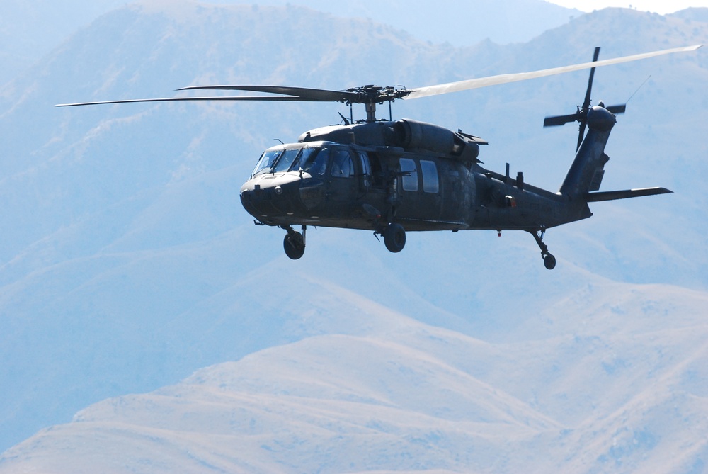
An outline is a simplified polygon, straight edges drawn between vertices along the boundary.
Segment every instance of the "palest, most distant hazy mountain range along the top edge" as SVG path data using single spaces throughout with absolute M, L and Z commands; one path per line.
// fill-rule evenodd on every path
M 4 0 L 0 4 L 0 84 L 25 72 L 50 55 L 69 35 L 99 16 L 129 2 L 123 0 Z M 155 2 L 153 2 L 155 3 Z M 242 4 L 219 0 L 212 4 Z M 286 6 L 292 2 L 259 0 L 250 4 Z M 349 0 L 331 2 L 300 0 L 299 6 L 342 17 L 371 18 L 409 32 L 421 40 L 474 45 L 485 38 L 496 43 L 530 40 L 549 28 L 566 23 L 580 11 L 543 0 L 477 0 L 465 4 L 452 0 L 434 5 L 424 0 Z M 479 21 L 485 18 L 485 21 Z

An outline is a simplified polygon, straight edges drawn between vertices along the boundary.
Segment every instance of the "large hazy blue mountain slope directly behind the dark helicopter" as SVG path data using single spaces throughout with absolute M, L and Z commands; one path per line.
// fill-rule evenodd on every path
M 706 37 L 700 21 L 623 9 L 528 43 L 470 47 L 292 5 L 148 3 L 101 16 L 0 89 L 0 446 L 261 349 L 374 334 L 366 325 L 381 323 L 362 320 L 364 303 L 352 299 L 487 344 L 547 338 L 548 321 L 572 334 L 586 310 L 659 307 L 671 320 L 706 310 L 704 50 L 598 70 L 595 97 L 612 103 L 651 74 L 610 137 L 603 190 L 675 194 L 598 203 L 592 219 L 549 231 L 553 272 L 533 239 L 514 232 L 413 233 L 394 255 L 367 232 L 313 229 L 307 254 L 289 261 L 282 231 L 254 227 L 241 209 L 239 186 L 274 138 L 337 123 L 344 106 L 55 103 L 205 83 L 420 86 L 585 62 L 598 43 L 614 57 Z M 556 189 L 576 130 L 540 125 L 574 111 L 586 83 L 586 73 L 569 74 L 400 101 L 394 113 L 480 135 L 491 169 L 510 162 L 527 182 Z M 658 296 L 632 300 L 634 286 L 613 282 Z M 584 299 L 563 312 L 574 295 Z M 675 309 L 683 298 L 695 302 L 685 312 Z

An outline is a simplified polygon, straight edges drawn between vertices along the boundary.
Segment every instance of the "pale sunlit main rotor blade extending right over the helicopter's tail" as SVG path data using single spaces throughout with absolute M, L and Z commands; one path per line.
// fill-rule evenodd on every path
M 498 76 L 480 77 L 477 79 L 467 79 L 465 81 L 448 82 L 447 84 L 438 84 L 435 86 L 418 87 L 416 89 L 409 89 L 410 94 L 408 94 L 404 98 L 409 99 L 437 96 L 439 94 L 450 94 L 450 92 L 467 91 L 469 89 L 479 89 L 480 87 L 496 86 L 498 84 L 508 84 L 510 82 L 517 81 L 526 81 L 527 79 L 553 76 L 555 74 L 564 74 L 566 72 L 580 71 L 581 69 L 590 69 L 593 67 L 609 66 L 610 64 L 619 64 L 622 62 L 644 60 L 649 57 L 669 55 L 674 52 L 695 51 L 701 46 L 702 45 L 674 47 L 669 50 L 645 52 L 640 55 L 616 57 L 612 60 L 584 62 L 583 64 L 554 67 L 552 69 L 542 69 L 540 71 L 518 72 L 516 74 L 500 74 Z

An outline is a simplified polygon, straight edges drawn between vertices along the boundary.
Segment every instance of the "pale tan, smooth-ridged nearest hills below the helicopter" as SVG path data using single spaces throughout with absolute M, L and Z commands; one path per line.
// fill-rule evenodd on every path
M 326 290 L 358 313 L 358 334 L 309 337 L 105 400 L 6 451 L 0 473 L 705 467 L 704 293 L 600 283 L 531 316 L 543 337 L 490 343 Z

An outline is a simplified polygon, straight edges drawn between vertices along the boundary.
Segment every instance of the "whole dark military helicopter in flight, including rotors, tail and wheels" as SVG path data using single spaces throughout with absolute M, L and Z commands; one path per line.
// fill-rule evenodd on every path
M 589 203 L 652 196 L 672 191 L 632 188 L 599 191 L 609 157 L 605 145 L 626 106 L 591 106 L 596 67 L 642 60 L 701 45 L 639 55 L 406 89 L 367 85 L 341 91 L 290 86 L 188 86 L 178 91 L 256 92 L 257 96 L 190 96 L 64 103 L 58 107 L 161 101 L 307 101 L 338 102 L 350 108 L 340 125 L 304 132 L 295 143 L 281 143 L 261 154 L 241 186 L 241 204 L 261 226 L 285 230 L 283 249 L 290 259 L 304 255 L 307 227 L 340 227 L 373 231 L 390 252 L 401 252 L 406 232 L 522 230 L 541 251 L 544 266 L 556 258 L 544 242 L 551 228 L 590 218 Z M 393 120 L 391 104 L 479 87 L 507 84 L 590 69 L 586 95 L 575 113 L 547 117 L 544 127 L 578 122 L 576 155 L 559 191 L 527 184 L 523 173 L 510 176 L 481 167 L 479 151 L 488 143 L 469 133 L 413 119 Z M 270 94 L 270 95 L 262 95 Z M 389 119 L 377 119 L 377 105 L 387 103 Z M 366 118 L 354 120 L 353 104 L 363 104 Z M 295 230 L 294 227 L 300 227 Z

